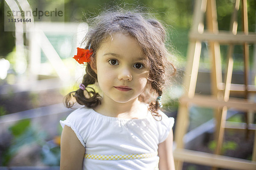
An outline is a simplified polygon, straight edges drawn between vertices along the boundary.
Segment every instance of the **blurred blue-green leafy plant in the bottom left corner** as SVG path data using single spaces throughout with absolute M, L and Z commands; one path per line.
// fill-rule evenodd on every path
M 41 161 L 48 166 L 59 166 L 60 162 L 60 147 L 53 142 L 47 142 L 47 133 L 39 130 L 31 124 L 30 119 L 23 119 L 9 127 L 13 136 L 12 141 L 4 151 L 0 166 L 8 166 L 11 159 L 24 147 L 35 144 L 41 147 L 41 152 L 38 153 Z

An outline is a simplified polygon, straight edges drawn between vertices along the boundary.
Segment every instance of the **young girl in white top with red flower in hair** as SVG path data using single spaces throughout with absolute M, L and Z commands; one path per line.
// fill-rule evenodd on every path
M 131 11 L 105 12 L 93 24 L 74 57 L 87 62 L 86 74 L 66 105 L 75 97 L 84 107 L 60 121 L 61 170 L 175 170 L 174 119 L 159 111 L 172 66 L 163 26 Z M 95 83 L 102 95 L 88 86 Z

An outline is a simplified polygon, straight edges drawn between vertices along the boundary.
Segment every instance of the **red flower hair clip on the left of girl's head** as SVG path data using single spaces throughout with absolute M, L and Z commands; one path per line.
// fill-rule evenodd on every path
M 73 57 L 73 59 L 76 59 L 76 61 L 79 64 L 84 64 L 84 62 L 90 61 L 90 56 L 93 54 L 93 50 L 90 49 L 83 49 L 83 48 L 77 48 L 77 54 Z

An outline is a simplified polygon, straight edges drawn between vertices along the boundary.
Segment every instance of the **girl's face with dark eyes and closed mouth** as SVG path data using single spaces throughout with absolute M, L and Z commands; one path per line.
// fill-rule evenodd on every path
M 146 57 L 131 36 L 115 33 L 96 53 L 96 67 L 103 98 L 125 103 L 137 99 L 147 84 Z

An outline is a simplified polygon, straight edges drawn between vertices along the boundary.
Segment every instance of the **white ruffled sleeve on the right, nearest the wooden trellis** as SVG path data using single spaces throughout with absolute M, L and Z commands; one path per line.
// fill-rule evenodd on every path
M 162 111 L 159 111 L 162 120 L 159 122 L 159 143 L 164 142 L 169 136 L 170 131 L 174 125 L 174 118 L 168 117 Z

